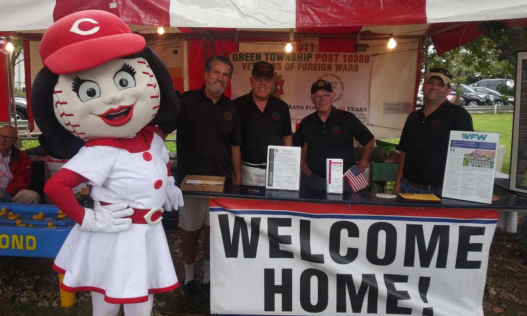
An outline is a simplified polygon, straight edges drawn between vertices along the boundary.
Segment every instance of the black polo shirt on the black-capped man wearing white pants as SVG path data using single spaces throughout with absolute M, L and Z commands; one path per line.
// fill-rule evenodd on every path
M 261 112 L 251 92 L 236 98 L 234 102 L 241 117 L 241 160 L 254 164 L 265 163 L 267 146 L 282 146 L 282 137 L 292 134 L 287 103 L 270 95 L 264 112 Z

